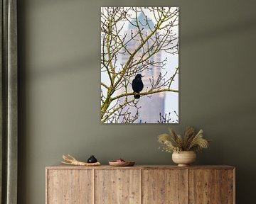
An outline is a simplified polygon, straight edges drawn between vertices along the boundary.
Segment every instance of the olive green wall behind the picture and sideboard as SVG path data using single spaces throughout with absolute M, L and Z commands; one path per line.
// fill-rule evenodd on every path
M 100 124 L 100 6 L 180 7 L 180 123 Z M 237 203 L 255 203 L 256 1 L 18 2 L 18 203 L 43 204 L 45 166 L 63 153 L 103 164 L 171 164 L 156 136 L 202 128 L 198 164 L 237 167 Z

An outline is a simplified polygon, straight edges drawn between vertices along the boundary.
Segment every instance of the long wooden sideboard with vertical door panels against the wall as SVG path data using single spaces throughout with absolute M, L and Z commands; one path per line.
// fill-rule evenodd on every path
M 233 166 L 46 167 L 46 204 L 234 204 Z

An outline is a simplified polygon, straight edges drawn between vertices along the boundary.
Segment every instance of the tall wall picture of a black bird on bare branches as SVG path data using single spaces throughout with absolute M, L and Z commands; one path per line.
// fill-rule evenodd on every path
M 178 7 L 101 8 L 101 123 L 178 123 Z

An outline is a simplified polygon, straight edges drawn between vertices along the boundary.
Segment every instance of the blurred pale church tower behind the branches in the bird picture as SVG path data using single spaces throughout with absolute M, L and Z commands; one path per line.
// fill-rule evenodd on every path
M 147 21 L 146 21 L 147 19 Z M 151 30 L 154 30 L 154 22 L 151 21 L 147 16 L 144 16 L 144 13 L 140 12 L 138 16 L 138 22 L 140 28 L 142 28 L 142 33 L 144 38 L 146 38 L 146 35 L 151 33 Z M 129 26 L 127 27 L 127 39 L 130 39 L 132 36 L 132 32 L 137 32 L 137 27 L 133 26 L 136 25 L 136 21 L 132 21 L 132 23 L 129 23 Z M 150 43 L 153 43 L 153 41 L 149 40 L 149 47 Z M 137 49 L 138 45 L 140 44 L 140 38 L 139 35 L 137 35 L 137 39 L 131 40 L 127 43 L 127 50 L 131 50 L 133 52 L 135 49 Z M 137 53 L 137 55 L 134 57 L 134 60 L 140 60 L 142 57 L 143 49 L 140 49 Z M 127 60 L 129 59 L 130 55 L 123 55 L 122 56 L 122 64 L 125 64 Z M 149 59 L 151 62 L 161 62 L 161 52 L 157 52 L 155 55 L 152 55 Z M 146 69 L 144 69 L 142 72 L 138 70 L 137 73 L 134 73 L 134 77 L 136 74 L 142 74 L 144 76 L 142 78 L 144 89 L 142 92 L 148 91 L 151 89 L 151 83 L 150 79 L 156 80 L 159 77 L 159 74 L 161 74 L 161 67 L 154 67 L 154 65 L 149 65 Z M 132 84 L 132 77 L 129 81 L 129 83 Z M 124 91 L 124 90 L 122 90 Z M 132 92 L 132 85 L 128 87 L 129 92 Z M 133 96 L 132 96 L 133 97 Z M 148 96 L 141 96 L 139 98 L 138 106 L 139 108 L 139 117 L 134 123 L 158 123 L 157 121 L 160 120 L 160 113 L 161 115 L 164 115 L 164 101 L 165 101 L 165 94 L 164 92 L 156 93 Z M 132 115 L 134 115 L 137 111 L 137 109 L 132 109 L 129 107 L 130 112 Z M 122 118 L 120 118 L 122 120 Z

